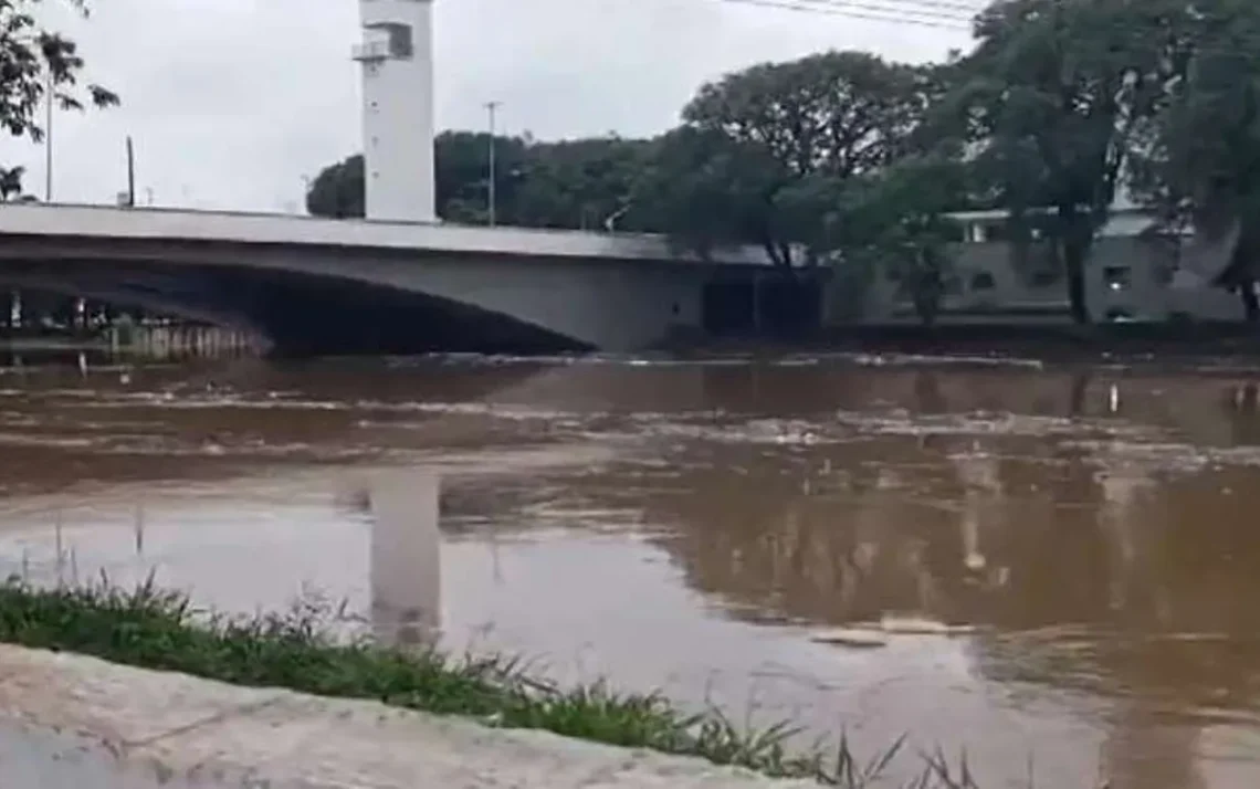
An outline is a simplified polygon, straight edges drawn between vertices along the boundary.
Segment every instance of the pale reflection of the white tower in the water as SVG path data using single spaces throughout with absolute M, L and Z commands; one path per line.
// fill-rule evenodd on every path
M 441 479 L 386 471 L 368 490 L 372 513 L 372 631 L 378 643 L 427 647 L 441 629 Z

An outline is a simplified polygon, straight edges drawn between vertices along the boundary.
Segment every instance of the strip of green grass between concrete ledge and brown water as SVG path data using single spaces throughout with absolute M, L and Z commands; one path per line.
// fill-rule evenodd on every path
M 834 749 L 800 754 L 786 746 L 798 734 L 788 725 L 745 732 L 717 711 L 684 715 L 655 694 L 616 693 L 602 683 L 557 688 L 528 678 L 517 663 L 501 658 L 455 659 L 367 642 L 339 643 L 324 621 L 310 606 L 252 619 L 204 615 L 183 594 L 151 582 L 134 591 L 103 582 L 40 589 L 10 579 L 0 585 L 0 642 L 234 684 L 377 700 L 847 789 L 871 784 L 905 745 L 898 740 L 864 763 L 854 759 L 844 737 Z M 951 769 L 937 752 L 924 755 L 919 778 L 907 786 L 963 789 L 974 781 L 965 765 Z

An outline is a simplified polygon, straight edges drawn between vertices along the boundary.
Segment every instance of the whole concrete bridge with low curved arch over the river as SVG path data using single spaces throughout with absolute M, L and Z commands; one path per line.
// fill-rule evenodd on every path
M 292 353 L 633 350 L 701 329 L 706 289 L 751 280 L 662 237 L 294 216 L 0 205 L 0 286 L 267 337 Z

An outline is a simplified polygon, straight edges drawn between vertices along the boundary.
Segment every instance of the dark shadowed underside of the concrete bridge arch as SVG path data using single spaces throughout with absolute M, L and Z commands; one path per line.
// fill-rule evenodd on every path
M 5 260 L 0 284 L 251 330 L 284 355 L 588 349 L 537 325 L 423 292 L 247 266 Z

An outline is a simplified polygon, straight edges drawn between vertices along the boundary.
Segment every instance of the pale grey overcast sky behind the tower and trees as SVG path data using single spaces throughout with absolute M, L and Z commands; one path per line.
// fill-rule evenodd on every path
M 905 0 L 864 0 L 883 4 Z M 973 0 L 976 5 L 980 0 Z M 96 0 L 69 19 L 88 78 L 122 106 L 54 121 L 57 202 L 106 203 L 136 140 L 140 202 L 285 210 L 302 176 L 359 149 L 355 0 Z M 667 129 L 706 79 L 823 49 L 925 60 L 965 33 L 719 0 L 437 0 L 437 125 L 543 139 Z M 43 197 L 44 153 L 5 139 Z

